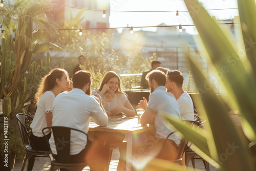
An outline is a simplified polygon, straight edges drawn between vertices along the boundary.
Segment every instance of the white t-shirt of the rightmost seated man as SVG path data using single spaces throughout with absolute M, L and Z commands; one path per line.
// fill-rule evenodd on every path
M 194 120 L 194 105 L 191 97 L 184 92 L 177 102 L 180 108 L 181 120 Z

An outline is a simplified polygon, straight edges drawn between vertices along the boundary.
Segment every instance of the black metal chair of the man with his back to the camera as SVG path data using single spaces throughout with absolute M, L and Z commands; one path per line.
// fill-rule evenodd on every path
M 42 129 L 42 133 L 45 135 L 44 131 L 46 129 L 51 129 L 52 134 L 54 137 L 55 145 L 57 146 L 59 143 L 59 139 L 63 142 L 65 142 L 65 145 L 62 145 L 61 148 L 56 148 L 57 156 L 56 154 L 53 154 L 51 151 L 51 154 L 53 156 L 56 156 L 54 160 L 51 161 L 51 167 L 50 171 L 57 170 L 59 168 L 64 168 L 65 170 L 68 169 L 70 171 L 77 171 L 82 170 L 84 167 L 87 166 L 86 163 L 71 163 L 71 156 L 70 156 L 70 137 L 71 137 L 71 131 L 77 131 L 87 136 L 87 142 L 88 142 L 88 135 L 80 130 L 73 129 L 71 127 L 66 126 L 49 126 Z M 45 135 L 46 137 L 46 135 Z M 47 138 L 47 137 L 46 137 Z M 49 147 L 50 144 L 48 143 Z M 63 170 L 64 170 L 63 169 Z M 62 170 L 62 169 L 61 169 Z

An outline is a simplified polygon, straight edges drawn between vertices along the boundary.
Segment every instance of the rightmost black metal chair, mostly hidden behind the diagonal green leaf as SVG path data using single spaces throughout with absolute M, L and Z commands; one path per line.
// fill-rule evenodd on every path
M 194 115 L 195 121 L 197 121 L 196 125 L 202 129 L 202 125 L 205 121 L 201 122 L 200 118 L 197 115 Z M 188 166 L 189 161 L 191 160 L 192 166 L 195 169 L 195 159 L 201 159 L 204 163 L 204 167 L 206 171 L 210 171 L 209 163 L 205 161 L 202 157 L 200 157 L 196 152 L 194 152 L 190 146 L 187 146 L 185 149 L 185 165 Z

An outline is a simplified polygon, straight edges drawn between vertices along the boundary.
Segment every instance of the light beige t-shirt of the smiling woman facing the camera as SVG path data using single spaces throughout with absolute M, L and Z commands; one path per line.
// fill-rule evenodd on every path
M 100 93 L 99 90 L 92 91 L 92 95 L 99 94 L 99 93 Z M 114 97 L 110 102 L 106 101 L 105 94 L 103 94 L 103 96 L 101 97 L 101 102 L 104 110 L 109 112 L 111 112 L 113 109 L 117 107 L 124 107 L 124 103 L 126 100 L 128 100 L 127 97 L 122 93 L 115 93 Z

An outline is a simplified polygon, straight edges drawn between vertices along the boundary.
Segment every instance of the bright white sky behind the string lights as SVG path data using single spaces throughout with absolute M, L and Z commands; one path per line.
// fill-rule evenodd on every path
M 199 0 L 205 9 L 237 8 L 236 0 Z M 111 0 L 111 10 L 128 11 L 187 11 L 183 0 Z M 238 15 L 238 9 L 208 11 L 217 19 L 232 19 Z M 136 27 L 165 25 L 193 25 L 188 12 L 110 12 L 110 27 Z M 185 27 L 182 27 L 185 28 Z M 197 34 L 195 27 L 186 27 L 189 34 Z M 122 29 L 118 31 L 121 32 Z M 141 28 L 134 28 L 134 31 Z M 156 28 L 143 28 L 142 30 L 156 31 Z

